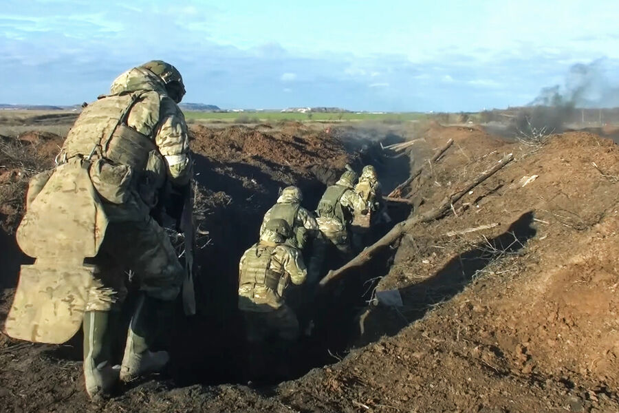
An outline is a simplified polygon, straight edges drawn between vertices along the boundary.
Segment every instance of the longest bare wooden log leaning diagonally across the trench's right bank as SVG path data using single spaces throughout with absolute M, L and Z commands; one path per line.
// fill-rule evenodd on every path
M 361 251 L 356 257 L 347 262 L 347 264 L 341 266 L 335 271 L 329 271 L 329 273 L 323 279 L 321 279 L 319 285 L 325 286 L 332 280 L 347 273 L 349 269 L 362 266 L 363 264 L 371 260 L 371 258 L 377 251 L 379 251 L 381 248 L 384 248 L 385 246 L 391 245 L 391 243 L 395 240 L 398 240 L 402 236 L 402 234 L 411 231 L 411 229 L 413 229 L 413 226 L 415 226 L 416 224 L 419 224 L 420 222 L 431 222 L 433 220 L 437 220 L 438 218 L 443 217 L 451 210 L 453 204 L 457 202 L 460 198 L 462 198 L 464 194 L 468 193 L 468 191 L 470 191 L 471 189 L 477 187 L 477 185 L 481 184 L 481 182 L 484 182 L 486 179 L 490 178 L 490 176 L 494 175 L 499 169 L 507 165 L 513 159 L 514 155 L 512 153 L 509 153 L 508 155 L 504 156 L 503 159 L 497 162 L 497 164 L 480 173 L 475 179 L 466 182 L 462 189 L 459 189 L 459 191 L 455 191 L 453 193 L 450 193 L 450 195 L 447 195 L 434 209 L 426 211 L 425 213 L 422 213 L 420 215 L 415 215 L 409 220 L 395 224 L 393 229 L 391 229 L 391 231 L 385 234 L 384 237 L 380 238 L 380 240 L 378 240 L 371 246 L 365 248 L 365 250 Z

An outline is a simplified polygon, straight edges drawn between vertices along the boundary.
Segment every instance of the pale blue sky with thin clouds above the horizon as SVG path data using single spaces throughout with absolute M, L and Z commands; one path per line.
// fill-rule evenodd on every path
M 619 1 L 3 0 L 0 103 L 91 101 L 164 59 L 184 102 L 224 108 L 523 105 L 576 63 L 616 88 L 618 16 Z

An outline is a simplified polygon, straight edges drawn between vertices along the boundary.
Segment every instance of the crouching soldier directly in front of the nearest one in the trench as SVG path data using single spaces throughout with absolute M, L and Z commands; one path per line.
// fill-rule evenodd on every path
M 269 209 L 260 226 L 260 235 L 263 234 L 266 224 L 273 219 L 281 218 L 292 229 L 288 242 L 290 245 L 303 251 L 308 238 L 318 233 L 318 223 L 314 214 L 301 207 L 303 193 L 297 187 L 285 187 L 277 198 L 276 204 Z

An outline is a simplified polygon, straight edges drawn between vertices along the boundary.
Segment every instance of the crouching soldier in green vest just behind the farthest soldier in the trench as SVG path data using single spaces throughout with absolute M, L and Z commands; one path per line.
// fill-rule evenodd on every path
M 366 202 L 354 191 L 356 180 L 357 174 L 354 171 L 345 171 L 334 185 L 327 188 L 318 202 L 316 222 L 321 234 L 316 238 L 310 260 L 308 277 L 312 283 L 318 281 L 321 275 L 329 245 L 335 246 L 345 259 L 352 253 L 349 225 L 355 214 L 367 213 Z

